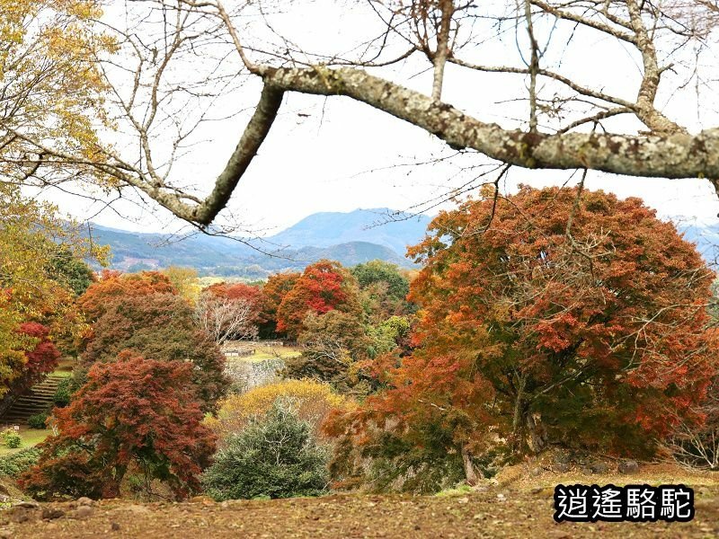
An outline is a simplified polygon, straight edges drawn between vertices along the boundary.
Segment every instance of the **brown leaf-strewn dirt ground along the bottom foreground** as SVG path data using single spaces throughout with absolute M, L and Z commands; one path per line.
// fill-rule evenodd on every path
M 558 482 L 684 482 L 696 493 L 690 523 L 563 523 L 553 520 Z M 448 496 L 332 495 L 318 499 L 137 504 L 103 500 L 0 511 L 0 537 L 719 537 L 719 476 L 542 473 Z

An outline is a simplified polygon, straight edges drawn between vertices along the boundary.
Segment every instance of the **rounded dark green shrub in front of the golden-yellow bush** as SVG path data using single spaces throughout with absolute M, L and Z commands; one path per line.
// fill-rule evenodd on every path
M 263 418 L 230 437 L 202 483 L 217 501 L 319 496 L 328 482 L 328 456 L 315 443 L 310 425 L 276 402 Z

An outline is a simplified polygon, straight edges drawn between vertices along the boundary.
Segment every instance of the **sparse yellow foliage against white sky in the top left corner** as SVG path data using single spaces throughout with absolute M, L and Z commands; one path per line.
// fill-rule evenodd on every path
M 45 186 L 86 173 L 111 127 L 97 61 L 115 48 L 96 0 L 0 0 L 0 181 Z M 30 141 L 33 141 L 31 144 Z M 40 145 L 38 142 L 40 141 Z M 58 155 L 74 155 L 56 163 Z

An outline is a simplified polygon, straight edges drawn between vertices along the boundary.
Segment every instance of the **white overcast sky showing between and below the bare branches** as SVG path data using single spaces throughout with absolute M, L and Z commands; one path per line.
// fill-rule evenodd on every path
M 107 13 L 113 24 L 122 22 L 123 4 L 116 4 Z M 306 50 L 349 50 L 355 41 L 378 28 L 377 19 L 368 13 L 364 4 L 318 0 L 299 5 L 300 12 L 288 8 L 281 13 L 271 13 L 270 33 L 267 24 L 263 28 L 252 13 L 243 13 L 235 20 L 248 40 L 291 36 L 294 43 Z M 476 35 L 481 37 L 483 31 L 488 30 L 480 28 Z M 546 37 L 546 62 L 561 65 L 563 72 L 603 91 L 627 98 L 635 93 L 641 77 L 638 59 L 621 43 L 590 31 L 573 38 L 571 49 L 557 49 L 554 43 L 561 46 L 567 38 L 561 29 L 545 28 L 537 23 L 537 32 L 540 39 Z M 524 40 L 522 33 L 503 31 L 501 39 L 482 41 L 481 47 L 467 49 L 466 56 L 475 60 L 474 55 L 494 65 L 521 65 Z M 206 63 L 201 54 L 182 60 L 168 78 L 182 80 L 182 77 L 200 76 Z M 702 61 L 715 66 L 714 60 L 708 57 Z M 392 71 L 378 71 L 378 74 L 425 93 L 431 89 L 431 74 L 422 58 L 411 58 Z M 675 92 L 677 80 L 670 79 L 662 85 L 658 101 L 663 110 L 692 130 L 705 128 L 712 122 L 719 124 L 715 110 L 702 106 L 698 93 L 690 87 Z M 119 85 L 123 84 L 127 86 L 120 80 Z M 511 100 L 523 91 L 522 84 L 516 75 L 483 75 L 448 66 L 443 100 L 479 119 L 515 127 L 526 117 L 526 102 Z M 197 129 L 186 155 L 175 163 L 173 177 L 178 184 L 190 185 L 200 192 L 209 190 L 242 133 L 259 90 L 259 84 L 249 80 L 217 100 L 215 106 L 220 111 L 240 111 L 231 118 L 211 121 Z M 552 92 L 551 87 L 545 89 L 545 93 Z M 178 108 L 174 114 L 190 116 L 191 111 Z M 217 117 L 220 116 L 223 114 L 218 113 Z M 635 128 L 631 123 L 612 125 L 625 131 Z M 112 137 L 129 150 L 135 144 L 135 139 L 121 130 Z M 163 133 L 157 134 L 158 145 L 166 144 L 163 137 Z M 263 235 L 279 232 L 319 211 L 393 208 L 433 214 L 452 206 L 452 203 L 438 206 L 434 201 L 467 181 L 476 181 L 486 170 L 483 167 L 488 162 L 483 156 L 450 158 L 454 154 L 422 129 L 349 98 L 286 94 L 271 133 L 235 190 L 224 218 L 237 227 L 238 234 Z M 576 181 L 578 176 L 573 172 L 512 168 L 502 183 L 502 190 L 510 193 L 519 183 L 541 187 L 573 185 Z M 706 181 L 636 179 L 590 172 L 586 187 L 609 190 L 622 198 L 641 197 L 664 218 L 705 224 L 719 222 L 719 199 Z M 100 194 L 102 201 L 96 202 L 58 191 L 43 192 L 41 197 L 54 201 L 61 211 L 101 225 L 144 232 L 175 232 L 182 227 L 182 222 L 155 203 L 140 203 L 137 195 L 126 195 L 127 199 L 110 207 L 105 207 L 108 199 Z

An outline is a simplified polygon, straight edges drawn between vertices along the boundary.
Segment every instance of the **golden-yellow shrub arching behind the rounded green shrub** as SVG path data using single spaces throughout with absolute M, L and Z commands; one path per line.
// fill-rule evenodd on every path
M 330 411 L 346 411 L 351 407 L 348 399 L 333 393 L 330 384 L 313 380 L 285 380 L 227 397 L 219 402 L 217 418 L 208 418 L 205 423 L 222 440 L 244 429 L 254 416 L 265 415 L 278 399 L 291 405 L 297 417 L 310 425 L 313 434 L 318 433 L 320 424 Z

